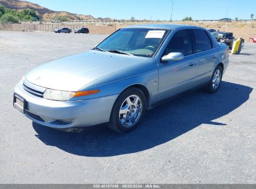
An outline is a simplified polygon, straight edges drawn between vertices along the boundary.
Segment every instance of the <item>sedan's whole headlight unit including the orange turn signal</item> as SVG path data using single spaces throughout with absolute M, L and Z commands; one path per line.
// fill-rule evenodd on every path
M 100 90 L 78 91 L 77 93 L 70 91 L 46 90 L 44 92 L 44 98 L 55 101 L 68 101 L 70 98 L 73 97 L 88 96 L 96 93 L 100 93 Z

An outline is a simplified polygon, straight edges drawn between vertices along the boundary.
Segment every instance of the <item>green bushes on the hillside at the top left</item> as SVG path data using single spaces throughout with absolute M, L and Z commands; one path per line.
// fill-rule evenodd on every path
M 1 23 L 18 23 L 19 21 L 37 21 L 39 15 L 31 9 L 14 10 L 7 9 L 0 5 L 0 22 Z

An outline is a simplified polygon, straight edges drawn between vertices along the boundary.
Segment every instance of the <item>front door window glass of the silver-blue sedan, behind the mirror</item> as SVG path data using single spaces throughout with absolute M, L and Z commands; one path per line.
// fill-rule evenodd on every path
M 189 30 L 181 30 L 173 35 L 173 38 L 166 47 L 164 55 L 168 55 L 171 52 L 181 52 L 184 56 L 191 55 L 193 53 Z

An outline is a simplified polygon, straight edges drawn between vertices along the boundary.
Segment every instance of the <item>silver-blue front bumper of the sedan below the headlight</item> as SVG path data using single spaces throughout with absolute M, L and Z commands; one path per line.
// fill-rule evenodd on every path
M 24 113 L 27 118 L 38 124 L 59 129 L 108 122 L 118 97 L 118 94 L 115 94 L 80 101 L 52 101 L 24 90 L 22 81 L 15 86 L 14 94 L 26 99 Z

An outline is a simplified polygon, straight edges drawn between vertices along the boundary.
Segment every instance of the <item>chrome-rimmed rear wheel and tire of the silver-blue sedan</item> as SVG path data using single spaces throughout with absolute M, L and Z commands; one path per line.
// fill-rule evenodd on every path
M 204 88 L 204 90 L 206 90 L 208 93 L 216 93 L 220 88 L 220 84 L 222 82 L 222 75 L 223 75 L 223 70 L 220 67 L 220 65 L 218 65 L 214 70 L 214 72 L 212 73 L 209 84 Z M 216 85 L 216 82 L 217 82 L 217 85 Z

